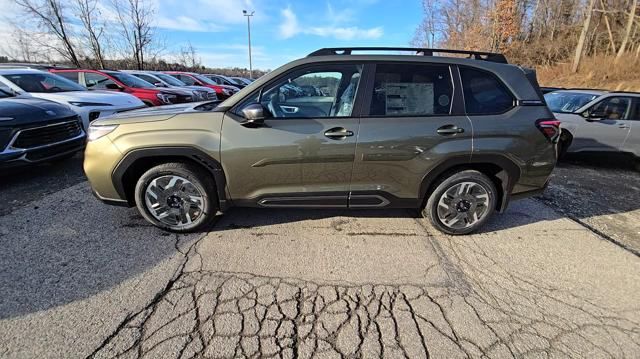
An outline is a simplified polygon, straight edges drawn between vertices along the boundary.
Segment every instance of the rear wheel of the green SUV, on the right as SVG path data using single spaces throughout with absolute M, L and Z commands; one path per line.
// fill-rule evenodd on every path
M 465 170 L 442 179 L 424 208 L 436 229 L 446 234 L 468 234 L 480 228 L 494 212 L 496 187 L 486 175 Z

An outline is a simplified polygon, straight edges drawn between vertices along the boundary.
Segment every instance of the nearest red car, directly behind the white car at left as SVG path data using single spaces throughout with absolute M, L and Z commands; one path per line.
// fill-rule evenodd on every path
M 147 106 L 162 106 L 193 102 L 191 91 L 159 88 L 133 75 L 111 70 L 49 70 L 57 75 L 77 82 L 89 90 L 111 90 L 132 94 Z

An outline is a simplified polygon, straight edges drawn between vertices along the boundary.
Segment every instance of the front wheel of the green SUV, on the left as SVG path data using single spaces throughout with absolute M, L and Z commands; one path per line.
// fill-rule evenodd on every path
M 135 198 L 146 220 L 172 232 L 202 230 L 213 222 L 218 210 L 212 177 L 186 163 L 149 169 L 136 184 Z

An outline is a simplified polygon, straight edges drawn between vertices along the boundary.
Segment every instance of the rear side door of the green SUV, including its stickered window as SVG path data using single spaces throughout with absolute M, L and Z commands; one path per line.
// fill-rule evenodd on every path
M 349 206 L 418 207 L 431 169 L 469 160 L 472 128 L 459 76 L 448 64 L 368 66 Z

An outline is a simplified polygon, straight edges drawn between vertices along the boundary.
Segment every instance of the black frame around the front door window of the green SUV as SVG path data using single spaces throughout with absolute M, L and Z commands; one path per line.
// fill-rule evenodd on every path
M 229 112 L 233 113 L 236 116 L 240 116 L 241 118 L 244 118 L 242 113 L 240 112 L 240 108 L 243 107 L 244 104 L 248 100 L 250 100 L 251 98 L 253 98 L 255 96 L 258 96 L 258 102 L 260 102 L 260 100 L 262 99 L 262 92 L 264 91 L 265 88 L 268 88 L 269 86 L 272 86 L 273 84 L 276 84 L 276 83 L 280 82 L 280 80 L 282 80 L 283 78 L 288 77 L 292 73 L 300 72 L 300 71 L 303 71 L 305 69 L 321 68 L 321 67 L 326 67 L 326 66 L 362 66 L 362 71 L 360 72 L 360 83 L 358 84 L 358 89 L 357 89 L 357 92 L 356 92 L 356 96 L 354 98 L 353 110 L 351 111 L 351 116 L 269 117 L 269 118 L 265 119 L 265 121 L 313 120 L 313 119 L 317 119 L 317 120 L 344 120 L 344 119 L 352 119 L 352 118 L 361 117 L 360 103 L 363 100 L 362 99 L 363 84 L 365 84 L 363 81 L 366 80 L 366 77 L 367 77 L 367 72 L 366 71 L 367 71 L 367 68 L 368 68 L 367 67 L 367 63 L 363 62 L 363 61 L 315 62 L 315 63 L 303 64 L 303 65 L 300 65 L 300 66 L 293 67 L 293 68 L 289 69 L 288 71 L 280 74 L 279 76 L 271 79 L 269 82 L 263 84 L 260 88 L 256 89 L 255 91 L 253 91 L 250 94 L 248 94 L 247 96 L 245 96 L 242 100 L 240 100 L 237 104 L 235 104 L 231 109 L 229 109 Z M 343 79 L 341 78 L 340 82 L 342 82 L 342 81 L 343 81 Z

